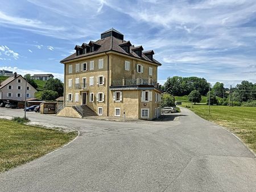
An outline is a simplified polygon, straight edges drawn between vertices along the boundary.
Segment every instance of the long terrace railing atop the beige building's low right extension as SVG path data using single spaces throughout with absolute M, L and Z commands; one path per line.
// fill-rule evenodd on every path
M 122 80 L 113 80 L 112 86 L 132 86 L 132 85 L 153 85 L 156 88 L 160 88 L 161 86 L 152 80 L 152 78 L 136 78 L 136 79 L 126 79 Z

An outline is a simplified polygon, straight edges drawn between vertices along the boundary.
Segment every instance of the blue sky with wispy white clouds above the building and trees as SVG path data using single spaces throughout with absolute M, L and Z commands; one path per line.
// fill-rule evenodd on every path
M 256 1 L 0 0 L 0 69 L 53 73 L 76 44 L 115 28 L 162 62 L 158 81 L 256 82 Z

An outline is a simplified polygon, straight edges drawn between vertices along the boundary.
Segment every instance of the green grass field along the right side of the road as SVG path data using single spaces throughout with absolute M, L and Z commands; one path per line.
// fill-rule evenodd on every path
M 191 103 L 188 105 L 191 106 Z M 186 103 L 182 106 L 185 107 Z M 207 105 L 193 105 L 189 109 L 235 133 L 256 153 L 256 107 L 210 106 L 210 117 Z

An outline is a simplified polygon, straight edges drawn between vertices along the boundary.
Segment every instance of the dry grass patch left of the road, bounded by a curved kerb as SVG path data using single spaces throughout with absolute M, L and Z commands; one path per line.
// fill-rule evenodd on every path
M 77 135 L 5 119 L 0 124 L 0 172 L 46 155 Z

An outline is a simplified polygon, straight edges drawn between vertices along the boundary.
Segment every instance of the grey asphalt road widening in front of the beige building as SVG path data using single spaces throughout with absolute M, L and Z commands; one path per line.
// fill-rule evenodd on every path
M 22 111 L 1 108 L 0 115 Z M 157 122 L 28 117 L 77 128 L 80 136 L 1 173 L 0 191 L 256 191 L 253 153 L 185 108 L 175 120 Z

